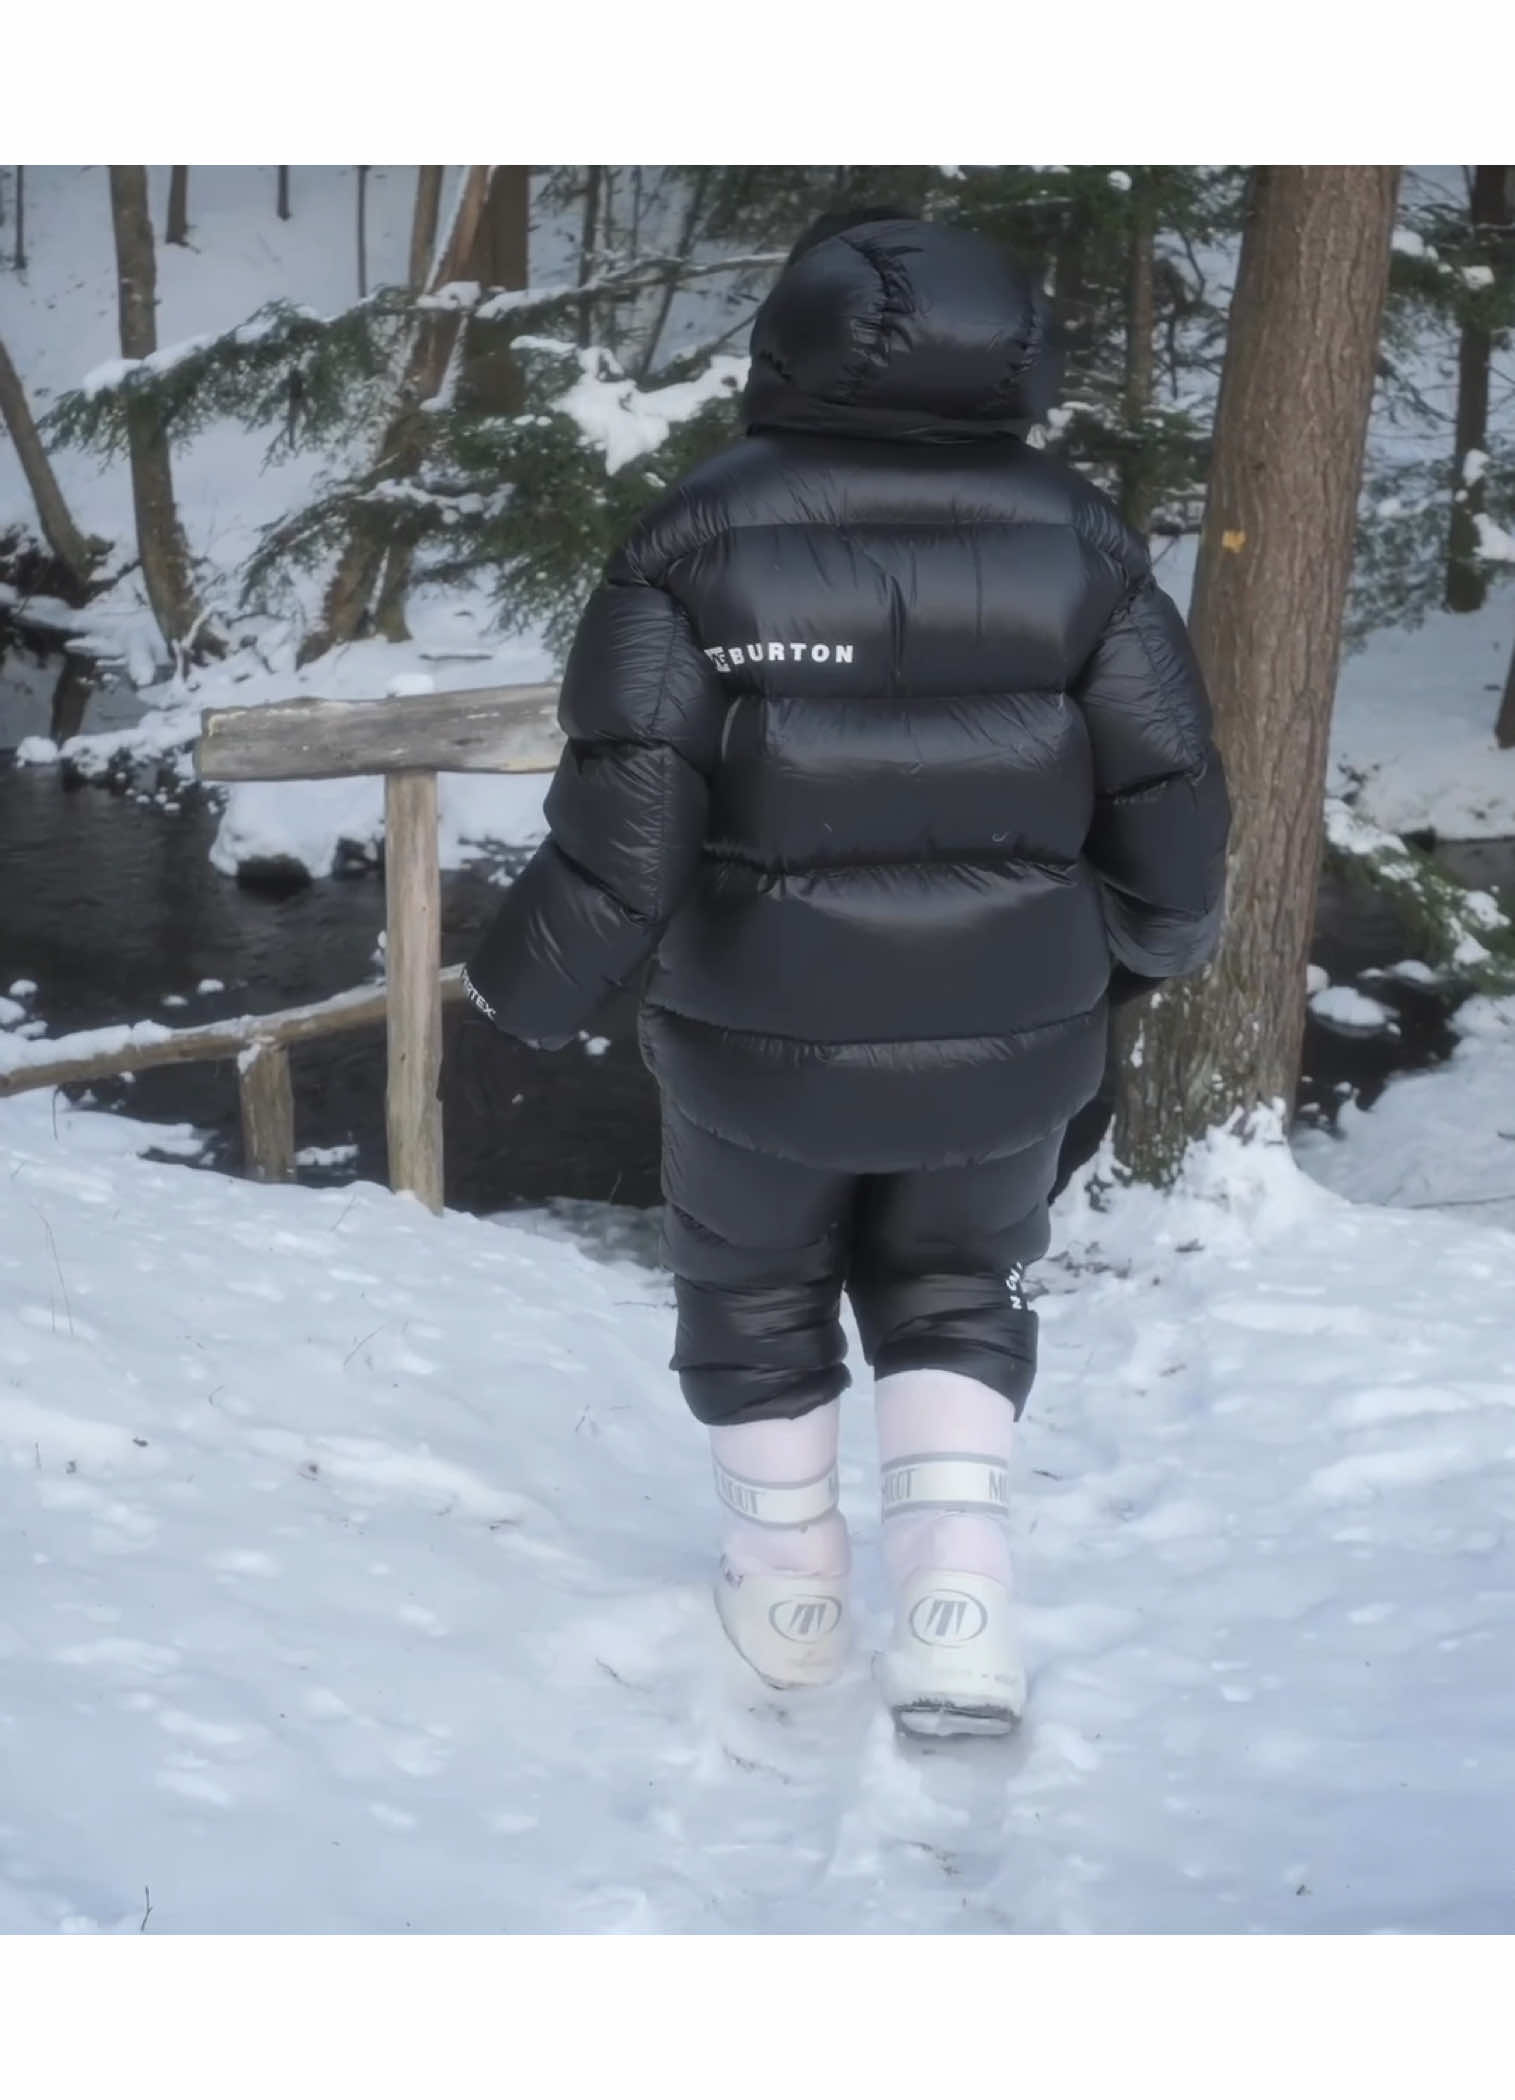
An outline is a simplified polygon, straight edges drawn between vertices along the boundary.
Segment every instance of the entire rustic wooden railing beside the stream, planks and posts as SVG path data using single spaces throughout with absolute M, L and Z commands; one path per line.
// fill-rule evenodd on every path
M 153 1065 L 235 1058 L 248 1172 L 288 1180 L 294 1174 L 290 1046 L 385 1021 L 389 1184 L 441 1210 L 441 1006 L 462 995 L 462 972 L 441 968 L 437 775 L 551 773 L 563 748 L 555 706 L 553 685 L 504 685 L 206 712 L 195 746 L 195 771 L 206 781 L 385 777 L 385 983 L 195 1029 L 147 1023 L 126 1033 L 105 1029 L 27 1046 L 25 1058 L 0 1063 L 0 1096 Z

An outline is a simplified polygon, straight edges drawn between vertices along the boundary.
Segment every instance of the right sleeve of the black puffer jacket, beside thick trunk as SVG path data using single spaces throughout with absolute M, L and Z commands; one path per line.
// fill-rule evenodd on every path
M 1210 699 L 1172 598 L 1143 569 L 1074 682 L 1095 754 L 1086 855 L 1118 964 L 1202 968 L 1221 939 L 1231 806 Z

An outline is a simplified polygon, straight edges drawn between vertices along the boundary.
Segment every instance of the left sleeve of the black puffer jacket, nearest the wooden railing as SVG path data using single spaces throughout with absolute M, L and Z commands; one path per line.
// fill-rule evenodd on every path
M 700 863 L 723 716 L 683 607 L 614 563 L 563 672 L 548 838 L 464 970 L 506 1035 L 561 1046 L 647 962 Z

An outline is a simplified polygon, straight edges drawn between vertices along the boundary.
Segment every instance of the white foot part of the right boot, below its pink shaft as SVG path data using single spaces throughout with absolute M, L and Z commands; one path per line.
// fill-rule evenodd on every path
M 1009 1735 L 1025 1712 L 1011 1592 L 988 1575 L 918 1569 L 876 1676 L 906 1735 Z

